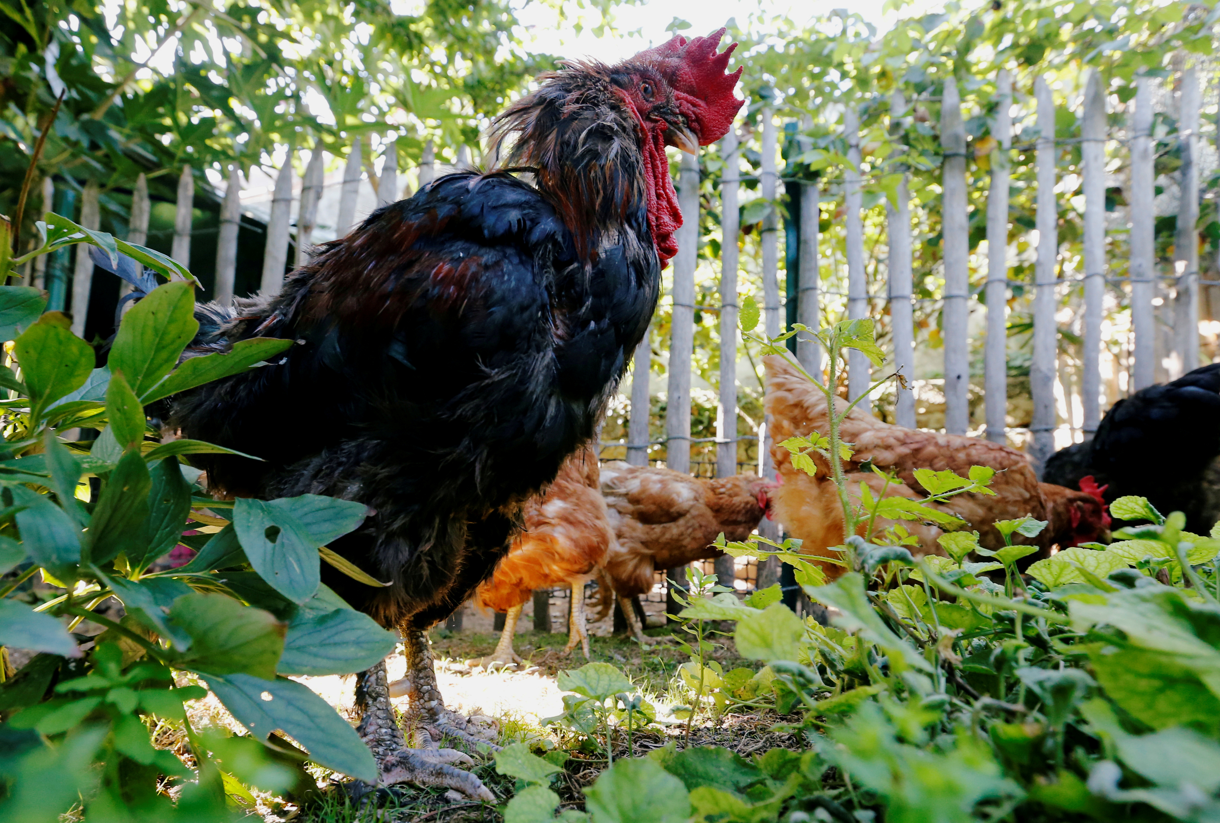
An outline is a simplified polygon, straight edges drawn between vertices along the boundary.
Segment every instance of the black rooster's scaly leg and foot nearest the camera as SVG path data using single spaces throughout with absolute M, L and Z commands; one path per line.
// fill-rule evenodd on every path
M 483 783 L 449 763 L 473 764 L 470 756 L 454 749 L 438 749 L 426 730 L 421 730 L 427 746 L 407 749 L 403 730 L 394 718 L 386 683 L 386 662 L 356 675 L 356 711 L 360 724 L 356 733 L 373 752 L 382 785 L 415 783 L 417 785 L 444 786 L 462 794 L 495 802 Z

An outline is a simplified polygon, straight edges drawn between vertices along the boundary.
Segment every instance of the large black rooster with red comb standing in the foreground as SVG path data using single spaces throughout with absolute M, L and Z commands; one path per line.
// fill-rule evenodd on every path
M 503 169 L 443 177 L 321 246 L 279 295 L 198 315 L 195 354 L 292 338 L 276 363 L 178 400 L 173 424 L 259 455 L 203 458 L 216 494 L 366 504 L 332 549 L 390 580 L 323 582 L 406 646 L 421 749 L 407 749 L 384 664 L 359 675 L 360 732 L 383 783 L 490 800 L 433 738 L 479 730 L 444 708 L 425 630 L 487 579 L 527 497 L 594 435 L 648 328 L 682 217 L 665 146 L 698 151 L 743 101 L 723 29 L 616 66 L 567 63 L 494 124 Z M 534 185 L 514 177 L 528 171 Z

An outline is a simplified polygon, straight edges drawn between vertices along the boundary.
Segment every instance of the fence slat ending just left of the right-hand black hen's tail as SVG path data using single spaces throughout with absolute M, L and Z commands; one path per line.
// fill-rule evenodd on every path
M 1038 200 L 1035 226 L 1038 256 L 1033 268 L 1033 362 L 1030 366 L 1030 394 L 1033 397 L 1031 455 L 1041 476 L 1042 466 L 1055 450 L 1055 260 L 1059 256 L 1059 205 L 1055 201 L 1055 104 L 1046 78 L 1033 82 L 1038 101 L 1037 178 Z

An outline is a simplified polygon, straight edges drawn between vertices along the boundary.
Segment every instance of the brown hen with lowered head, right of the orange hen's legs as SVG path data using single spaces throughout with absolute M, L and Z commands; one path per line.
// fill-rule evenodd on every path
M 712 546 L 719 534 L 749 536 L 766 513 L 765 489 L 754 474 L 706 479 L 622 462 L 601 467 L 601 495 L 615 532 L 605 573 L 637 640 L 648 641 L 631 599 L 651 590 L 659 568 L 720 557 L 723 552 Z

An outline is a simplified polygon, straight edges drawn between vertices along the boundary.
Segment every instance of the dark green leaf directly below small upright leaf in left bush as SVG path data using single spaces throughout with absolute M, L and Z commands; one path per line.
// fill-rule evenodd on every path
M 82 556 L 101 566 L 118 552 L 128 557 L 142 556 L 144 550 L 144 519 L 149 515 L 149 490 L 152 479 L 139 450 L 124 454 L 115 471 L 102 483 L 101 496 L 93 510 L 89 530 L 84 533 Z

